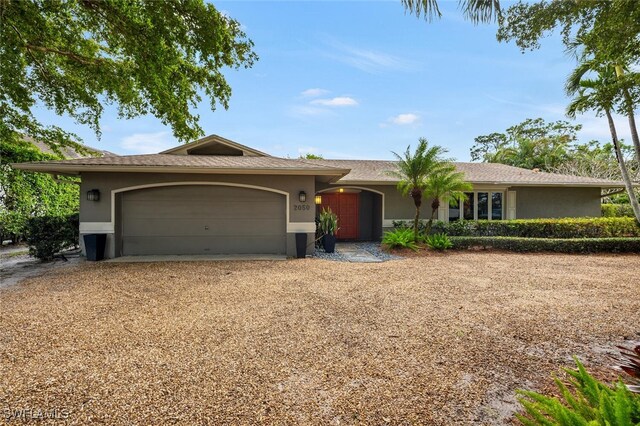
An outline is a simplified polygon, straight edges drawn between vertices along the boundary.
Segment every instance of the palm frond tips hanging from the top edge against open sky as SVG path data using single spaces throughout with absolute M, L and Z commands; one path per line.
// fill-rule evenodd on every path
M 404 8 L 427 20 L 441 17 L 437 0 L 401 0 Z M 464 16 L 474 24 L 492 22 L 500 14 L 500 0 L 458 0 Z

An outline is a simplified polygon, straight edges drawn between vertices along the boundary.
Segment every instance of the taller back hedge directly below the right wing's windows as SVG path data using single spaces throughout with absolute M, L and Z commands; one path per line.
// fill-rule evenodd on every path
M 640 237 L 640 226 L 630 217 L 464 220 L 436 222 L 432 233 L 466 237 L 618 238 Z

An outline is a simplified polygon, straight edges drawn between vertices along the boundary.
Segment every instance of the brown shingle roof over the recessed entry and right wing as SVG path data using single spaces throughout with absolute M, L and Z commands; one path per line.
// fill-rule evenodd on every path
M 395 183 L 397 179 L 389 175 L 396 167 L 395 161 L 375 160 L 305 160 L 325 166 L 351 169 L 351 172 L 338 180 L 337 184 L 347 183 Z M 536 172 L 519 167 L 497 163 L 454 163 L 458 171 L 464 173 L 471 183 L 491 183 L 508 185 L 575 185 L 575 186 L 624 186 L 622 182 L 556 173 Z

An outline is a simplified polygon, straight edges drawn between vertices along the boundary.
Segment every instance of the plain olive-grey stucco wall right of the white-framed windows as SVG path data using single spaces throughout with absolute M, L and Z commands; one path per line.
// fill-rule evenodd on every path
M 512 187 L 516 218 L 599 217 L 600 188 Z

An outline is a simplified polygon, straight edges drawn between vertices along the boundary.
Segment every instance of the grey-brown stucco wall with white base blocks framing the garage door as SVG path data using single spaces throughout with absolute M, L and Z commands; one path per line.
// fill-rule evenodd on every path
M 315 178 L 313 176 L 269 176 L 269 175 L 193 175 L 175 173 L 84 173 L 80 189 L 80 233 L 106 233 L 106 256 L 114 257 L 116 241 L 115 227 L 117 209 L 112 209 L 112 199 L 117 198 L 119 189 L 140 185 L 162 183 L 218 182 L 239 185 L 251 185 L 283 191 L 289 195 L 289 221 L 287 223 L 287 255 L 294 256 L 295 233 L 308 234 L 308 248 L 313 249 L 315 235 L 315 209 L 313 195 Z M 100 201 L 87 201 L 86 193 L 91 189 L 100 191 Z M 307 200 L 299 201 L 298 194 L 304 191 Z M 112 197 L 113 193 L 113 197 Z M 308 205 L 308 209 L 296 206 Z M 113 217 L 112 217 L 113 216 Z

